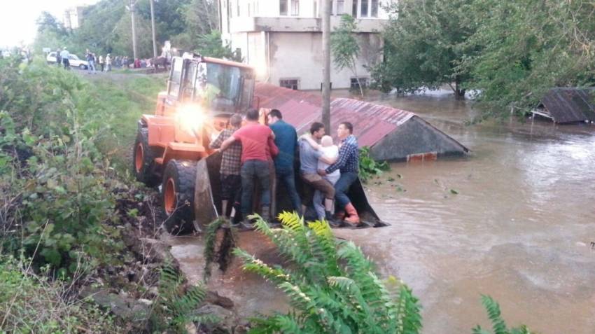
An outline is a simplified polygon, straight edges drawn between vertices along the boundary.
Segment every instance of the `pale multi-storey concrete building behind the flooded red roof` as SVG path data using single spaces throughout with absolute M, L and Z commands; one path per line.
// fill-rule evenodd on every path
M 322 0 L 221 0 L 223 43 L 240 50 L 258 79 L 295 90 L 318 90 L 322 82 Z M 356 18 L 362 85 L 366 67 L 381 61 L 380 31 L 388 20 L 384 6 L 394 0 L 332 0 L 331 29 L 342 14 Z M 332 88 L 356 88 L 356 75 L 332 64 Z

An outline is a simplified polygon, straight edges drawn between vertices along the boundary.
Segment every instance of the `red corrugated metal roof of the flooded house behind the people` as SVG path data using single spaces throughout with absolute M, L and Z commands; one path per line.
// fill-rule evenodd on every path
M 321 121 L 322 97 L 320 95 L 299 90 L 281 88 L 268 83 L 257 83 L 255 88 L 255 103 L 260 108 L 279 109 L 283 113 L 283 120 L 295 126 L 298 133 L 307 132 L 311 123 Z M 421 141 L 411 142 L 408 139 L 399 138 L 395 140 L 393 134 L 409 120 L 419 118 L 410 111 L 395 109 L 391 106 L 383 106 L 356 99 L 335 98 L 330 102 L 330 127 L 332 134 L 339 123 L 348 121 L 353 124 L 353 134 L 358 137 L 360 146 L 374 146 L 381 144 L 384 139 L 398 141 L 392 145 L 407 146 L 399 153 L 398 150 L 388 149 L 388 153 L 382 159 L 397 160 L 405 159 L 412 153 L 437 152 L 446 153 L 442 148 L 443 143 L 424 143 L 421 148 Z M 403 130 L 403 135 L 405 135 Z M 452 149 L 448 153 L 467 152 L 468 149 L 440 130 L 427 123 L 426 130 L 435 135 L 426 136 L 435 140 L 449 141 Z M 391 137 L 392 136 L 392 137 Z M 386 143 L 383 143 L 385 146 Z M 390 147 L 389 147 L 390 148 Z M 418 149 L 419 148 L 419 149 Z M 432 148 L 428 151 L 428 148 Z M 386 151 L 386 150 L 385 150 Z M 391 153 L 394 151 L 395 153 Z M 402 156 L 401 156 L 402 155 Z

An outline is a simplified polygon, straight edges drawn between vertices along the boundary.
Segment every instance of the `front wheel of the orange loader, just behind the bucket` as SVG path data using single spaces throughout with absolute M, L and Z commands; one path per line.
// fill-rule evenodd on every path
M 194 185 L 196 162 L 170 160 L 167 162 L 161 186 L 163 225 L 173 235 L 194 230 Z

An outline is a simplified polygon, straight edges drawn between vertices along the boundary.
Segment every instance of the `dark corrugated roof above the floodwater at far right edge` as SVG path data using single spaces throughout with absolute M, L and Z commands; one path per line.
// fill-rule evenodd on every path
M 594 88 L 552 88 L 541 104 L 556 123 L 595 121 Z

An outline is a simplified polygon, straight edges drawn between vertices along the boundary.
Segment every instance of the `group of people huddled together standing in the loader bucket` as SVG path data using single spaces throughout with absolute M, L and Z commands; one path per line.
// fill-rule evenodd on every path
M 248 215 L 253 212 L 252 196 L 255 180 L 258 180 L 260 216 L 271 222 L 270 186 L 271 172 L 274 172 L 276 184 L 283 184 L 293 210 L 298 214 L 305 213 L 307 204 L 314 204 L 317 218 L 325 219 L 332 226 L 359 225 L 358 213 L 347 196 L 351 183 L 358 179 L 359 149 L 353 136 L 353 125 L 340 123 L 337 128 L 340 142 L 336 146 L 332 138 L 325 135 L 322 123 L 312 123 L 309 133 L 298 138 L 295 127 L 283 120 L 281 111 L 269 111 L 269 126 L 260 124 L 259 118 L 257 109 L 249 109 L 245 118 L 234 114 L 228 127 L 210 144 L 211 149 L 223 154 L 220 169 L 223 213 L 230 212 L 231 221 L 239 221 L 235 218 L 239 217 L 238 209 L 241 209 L 244 219 L 237 224 L 252 229 Z M 304 197 L 304 203 L 295 186 L 297 151 L 300 178 L 309 186 L 306 187 L 310 188 L 308 190 L 314 190 L 314 193 L 307 191 L 309 195 Z M 339 208 L 336 214 L 335 201 Z

